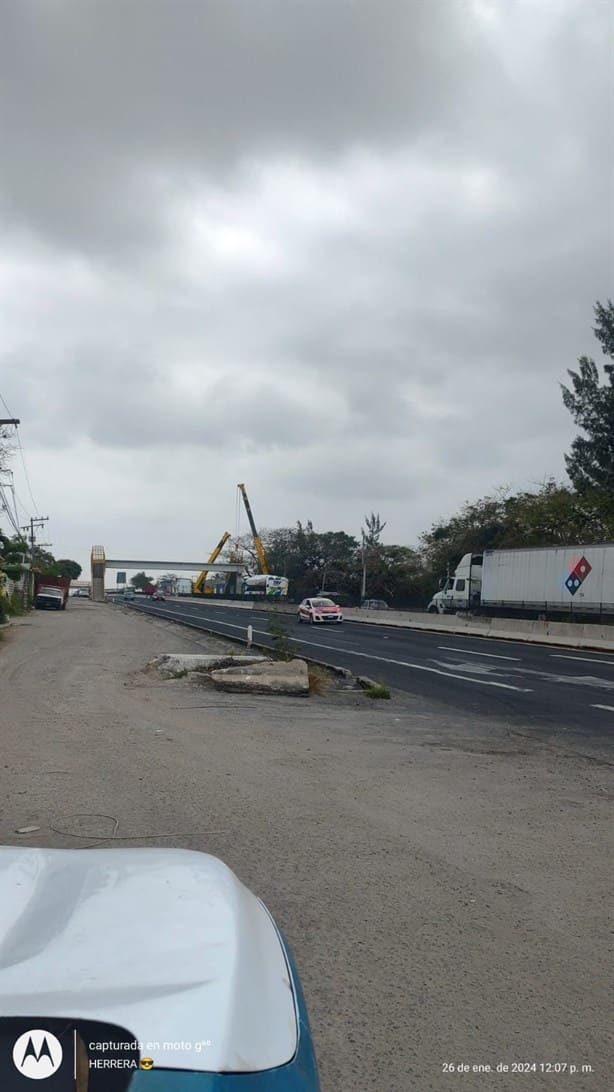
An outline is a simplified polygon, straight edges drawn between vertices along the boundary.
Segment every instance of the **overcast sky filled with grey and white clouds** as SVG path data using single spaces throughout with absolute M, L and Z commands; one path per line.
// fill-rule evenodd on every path
M 413 544 L 564 478 L 557 384 L 614 292 L 613 12 L 0 0 L 22 521 L 199 560 L 245 480 L 262 527 Z

